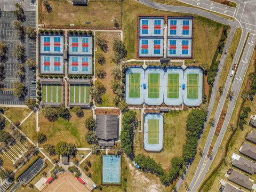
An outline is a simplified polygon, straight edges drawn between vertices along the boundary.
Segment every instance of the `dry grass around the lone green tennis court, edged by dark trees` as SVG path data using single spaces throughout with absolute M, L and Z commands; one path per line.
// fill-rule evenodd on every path
M 173 110 L 164 114 L 163 129 L 163 150 L 160 153 L 148 153 L 143 148 L 143 133 L 136 131 L 134 138 L 135 155 L 143 153 L 154 158 L 157 163 L 161 163 L 163 169 L 168 169 L 171 165 L 171 158 L 182 156 L 182 146 L 186 142 L 186 121 L 190 110 Z M 138 113 L 137 113 L 138 114 Z M 179 121 L 177 121 L 179 119 Z M 140 129 L 140 126 L 139 126 Z

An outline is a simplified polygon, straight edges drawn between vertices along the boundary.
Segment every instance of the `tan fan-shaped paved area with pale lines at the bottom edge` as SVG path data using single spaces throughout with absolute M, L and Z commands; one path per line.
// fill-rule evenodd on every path
M 60 173 L 58 179 L 54 179 L 47 185 L 44 192 L 89 192 L 90 190 L 79 182 L 72 173 Z

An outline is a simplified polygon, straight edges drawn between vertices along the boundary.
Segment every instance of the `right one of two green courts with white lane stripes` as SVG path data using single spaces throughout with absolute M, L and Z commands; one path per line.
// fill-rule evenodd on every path
M 69 100 L 70 102 L 89 103 L 90 86 L 89 85 L 70 85 Z

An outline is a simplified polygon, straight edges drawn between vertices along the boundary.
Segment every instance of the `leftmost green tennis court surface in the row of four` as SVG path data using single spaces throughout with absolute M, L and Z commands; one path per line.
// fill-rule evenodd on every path
M 129 75 L 129 97 L 140 98 L 140 74 Z

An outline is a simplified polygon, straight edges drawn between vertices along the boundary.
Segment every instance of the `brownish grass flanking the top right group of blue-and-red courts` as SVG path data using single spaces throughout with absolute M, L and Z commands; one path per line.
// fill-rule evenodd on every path
M 169 1 L 166 1 L 169 2 Z M 177 2 L 174 2 L 177 3 Z M 127 59 L 136 58 L 137 54 L 137 22 L 138 15 L 182 16 L 180 13 L 151 9 L 135 1 L 123 2 L 124 42 L 127 47 Z M 210 19 L 196 15 L 194 20 L 194 58 L 197 63 L 211 63 L 222 33 L 222 25 Z M 193 63 L 186 60 L 186 63 Z

